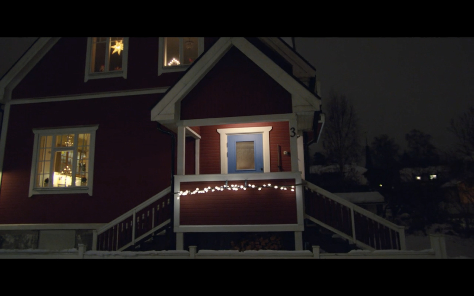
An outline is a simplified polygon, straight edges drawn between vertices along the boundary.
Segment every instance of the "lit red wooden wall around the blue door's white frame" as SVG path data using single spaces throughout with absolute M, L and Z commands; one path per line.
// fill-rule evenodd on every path
M 218 128 L 272 126 L 270 131 L 270 171 L 278 170 L 278 149 L 281 146 L 282 171 L 291 171 L 290 155 L 283 155 L 283 151 L 290 151 L 290 128 L 287 121 L 260 122 L 235 125 L 201 126 L 200 141 L 200 173 L 220 174 L 220 134 Z

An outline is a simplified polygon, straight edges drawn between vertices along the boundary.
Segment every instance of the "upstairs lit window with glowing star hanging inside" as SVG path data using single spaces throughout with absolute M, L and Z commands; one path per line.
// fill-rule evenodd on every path
M 127 78 L 128 37 L 90 37 L 84 81 L 96 78 Z

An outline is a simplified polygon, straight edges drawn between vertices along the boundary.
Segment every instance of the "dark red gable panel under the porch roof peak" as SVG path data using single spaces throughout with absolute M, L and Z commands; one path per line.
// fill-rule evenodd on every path
M 232 47 L 181 101 L 181 119 L 292 113 L 291 94 Z

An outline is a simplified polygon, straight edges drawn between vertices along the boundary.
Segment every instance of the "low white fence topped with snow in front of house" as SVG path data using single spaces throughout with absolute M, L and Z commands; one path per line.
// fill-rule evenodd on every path
M 196 246 L 189 251 L 86 251 L 85 245 L 78 249 L 63 251 L 49 250 L 0 250 L 0 259 L 441 259 L 447 258 L 443 235 L 430 235 L 431 249 L 424 251 L 398 250 L 354 250 L 348 253 L 320 253 L 319 246 L 311 251 L 211 251 L 196 252 Z

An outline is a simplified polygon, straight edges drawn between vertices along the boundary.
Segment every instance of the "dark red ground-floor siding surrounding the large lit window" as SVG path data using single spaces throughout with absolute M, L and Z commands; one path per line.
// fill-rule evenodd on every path
M 156 95 L 144 95 L 12 105 L 0 224 L 107 223 L 168 187 L 171 138 L 160 133 L 149 119 L 149 107 L 156 100 Z M 93 196 L 28 197 L 32 129 L 81 125 L 99 125 Z

